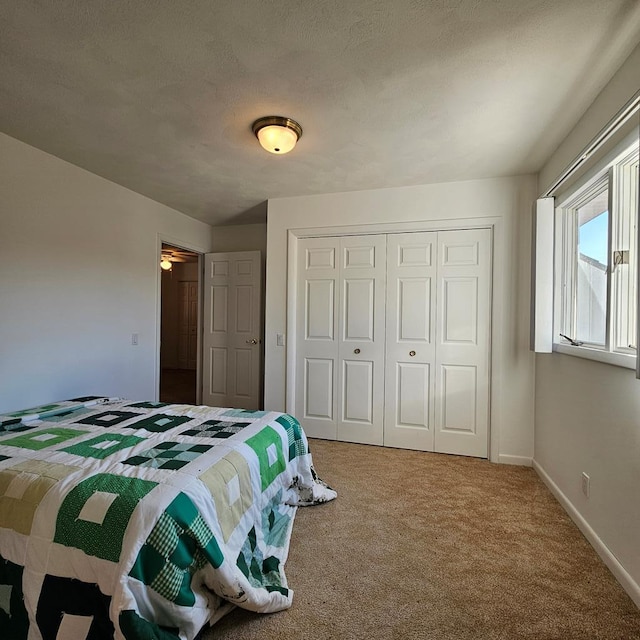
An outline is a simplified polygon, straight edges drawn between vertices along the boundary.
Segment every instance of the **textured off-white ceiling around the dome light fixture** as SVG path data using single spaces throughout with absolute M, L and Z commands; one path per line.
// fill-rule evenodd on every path
M 638 0 L 2 0 L 0 130 L 257 222 L 268 198 L 537 171 L 639 41 Z M 258 146 L 265 115 L 302 125 L 289 155 Z

